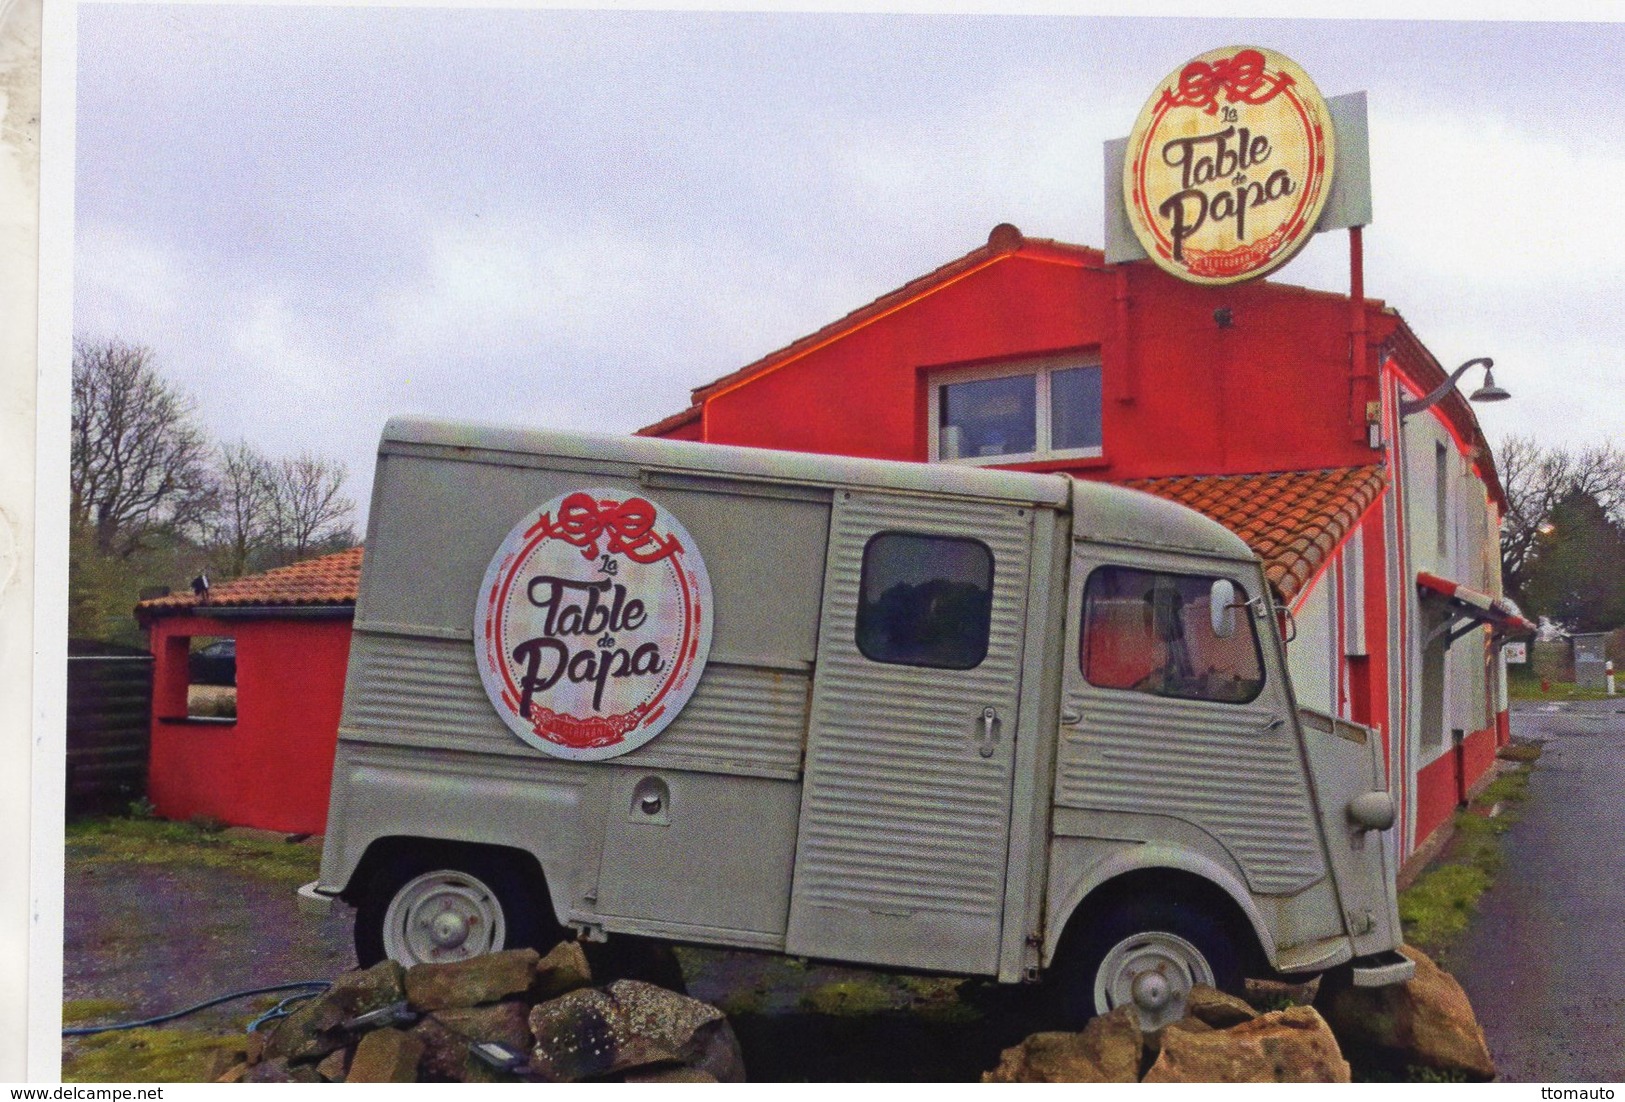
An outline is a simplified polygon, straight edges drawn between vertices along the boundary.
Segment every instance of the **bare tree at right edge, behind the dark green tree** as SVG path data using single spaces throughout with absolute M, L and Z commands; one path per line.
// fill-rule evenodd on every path
M 1495 449 L 1506 517 L 1502 520 L 1502 585 L 1513 600 L 1526 600 L 1540 528 L 1558 502 L 1586 494 L 1615 518 L 1625 518 L 1625 450 L 1602 444 L 1580 452 L 1540 447 L 1528 436 L 1511 436 Z

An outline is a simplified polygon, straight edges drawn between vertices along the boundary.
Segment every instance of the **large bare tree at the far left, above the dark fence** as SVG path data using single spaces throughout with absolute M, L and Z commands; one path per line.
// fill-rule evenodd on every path
M 210 507 L 206 437 L 151 349 L 76 340 L 72 426 L 73 520 L 98 551 L 128 559 L 198 527 Z

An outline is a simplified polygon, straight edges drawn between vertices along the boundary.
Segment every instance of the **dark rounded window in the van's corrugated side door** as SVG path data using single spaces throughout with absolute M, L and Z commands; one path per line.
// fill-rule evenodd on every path
M 881 531 L 863 548 L 856 642 L 869 662 L 978 666 L 991 610 L 993 553 L 980 540 Z

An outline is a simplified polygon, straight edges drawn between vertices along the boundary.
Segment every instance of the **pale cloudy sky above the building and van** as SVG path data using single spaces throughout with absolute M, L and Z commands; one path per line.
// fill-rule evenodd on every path
M 1625 437 L 1618 24 L 81 5 L 75 330 L 364 510 L 392 414 L 629 431 L 996 223 L 1100 245 L 1232 42 L 1367 89 L 1367 291 L 1495 358 L 1490 439 Z

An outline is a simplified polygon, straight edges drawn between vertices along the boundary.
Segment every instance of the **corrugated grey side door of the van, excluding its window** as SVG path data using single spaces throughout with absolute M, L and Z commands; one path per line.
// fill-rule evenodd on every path
M 993 551 L 991 637 L 982 665 L 925 670 L 858 652 L 864 546 L 881 530 L 972 536 Z M 853 492 L 837 501 L 832 541 L 790 948 L 991 970 L 1032 510 Z M 988 705 L 998 709 L 1001 743 L 999 753 L 982 757 L 977 736 Z M 850 935 L 838 933 L 847 925 Z M 887 925 L 907 944 L 887 948 Z

